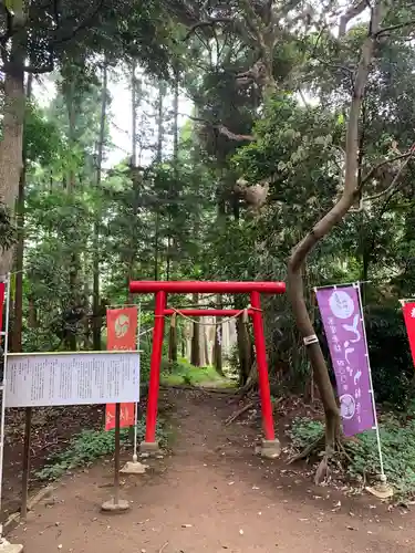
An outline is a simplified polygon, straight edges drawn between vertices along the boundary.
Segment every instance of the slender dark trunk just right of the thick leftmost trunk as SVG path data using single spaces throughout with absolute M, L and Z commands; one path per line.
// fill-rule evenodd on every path
M 32 96 L 33 75 L 28 75 L 27 83 L 27 100 Z M 24 133 L 24 126 L 23 126 Z M 18 243 L 15 248 L 15 291 L 14 291 L 14 317 L 13 331 L 11 335 L 12 352 L 22 351 L 22 331 L 23 331 L 23 254 L 24 254 L 24 191 L 25 191 L 25 174 L 27 174 L 27 153 L 23 148 L 23 166 L 20 173 L 19 195 L 17 202 L 17 226 L 18 226 Z

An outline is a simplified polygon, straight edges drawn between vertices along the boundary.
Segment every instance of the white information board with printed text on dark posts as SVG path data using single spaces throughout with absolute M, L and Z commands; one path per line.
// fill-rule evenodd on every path
M 138 352 L 9 354 L 6 407 L 135 403 Z

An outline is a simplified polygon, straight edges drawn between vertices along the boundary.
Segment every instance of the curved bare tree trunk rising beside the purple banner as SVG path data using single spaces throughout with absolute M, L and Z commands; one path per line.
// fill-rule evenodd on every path
M 314 228 L 295 246 L 288 261 L 288 294 L 291 301 L 293 315 L 302 338 L 315 336 L 315 332 L 308 313 L 304 300 L 302 270 L 309 253 L 330 233 L 334 226 L 342 221 L 355 199 L 361 194 L 357 186 L 357 156 L 359 156 L 359 118 L 362 100 L 367 82 L 370 64 L 376 42 L 376 33 L 381 23 L 382 0 L 374 2 L 370 24 L 361 52 L 361 58 L 354 80 L 353 97 L 350 107 L 346 146 L 345 146 L 345 176 L 342 197 L 335 206 L 314 226 Z M 325 414 L 325 455 L 330 456 L 335 447 L 340 432 L 340 413 L 333 387 L 330 382 L 326 363 L 318 341 L 307 345 L 307 352 L 314 373 L 315 384 Z

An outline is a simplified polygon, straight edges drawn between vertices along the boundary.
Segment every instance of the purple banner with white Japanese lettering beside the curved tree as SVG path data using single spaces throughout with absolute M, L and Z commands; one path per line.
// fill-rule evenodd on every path
M 317 291 L 338 383 L 345 436 L 354 436 L 375 426 L 371 368 L 356 286 Z

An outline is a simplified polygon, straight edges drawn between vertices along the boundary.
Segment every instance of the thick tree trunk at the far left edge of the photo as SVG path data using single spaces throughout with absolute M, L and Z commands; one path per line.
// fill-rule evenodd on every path
M 17 8 L 18 10 L 18 8 Z M 24 49 L 22 48 L 25 15 L 17 11 L 13 17 L 14 38 L 10 52 L 10 69 L 4 75 L 4 108 L 2 139 L 0 142 L 0 205 L 14 220 L 14 202 L 19 195 L 19 182 L 23 166 L 24 123 Z M 7 54 L 6 54 L 7 55 Z M 13 249 L 0 249 L 0 275 L 12 270 Z

